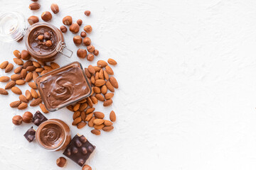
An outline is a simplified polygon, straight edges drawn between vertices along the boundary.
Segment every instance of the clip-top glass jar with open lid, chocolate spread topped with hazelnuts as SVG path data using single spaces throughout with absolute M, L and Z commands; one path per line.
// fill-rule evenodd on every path
M 52 62 L 58 54 L 71 57 L 63 33 L 50 23 L 34 23 L 28 27 L 26 18 L 17 12 L 0 14 L 0 40 L 14 42 L 24 39 L 28 52 L 36 60 Z

